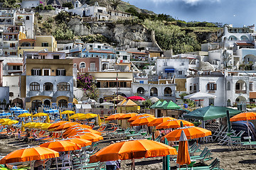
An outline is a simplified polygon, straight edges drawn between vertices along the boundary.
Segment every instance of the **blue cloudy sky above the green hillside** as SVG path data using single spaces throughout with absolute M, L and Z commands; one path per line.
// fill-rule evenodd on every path
M 208 21 L 235 27 L 256 23 L 255 0 L 124 0 L 154 13 L 166 13 L 183 21 Z

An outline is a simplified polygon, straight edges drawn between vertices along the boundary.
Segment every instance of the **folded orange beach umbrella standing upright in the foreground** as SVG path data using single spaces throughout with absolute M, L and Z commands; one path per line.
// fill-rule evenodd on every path
M 180 166 L 183 164 L 191 164 L 191 159 L 188 152 L 188 140 L 183 130 L 181 130 L 181 137 L 178 142 L 178 156 L 177 164 Z

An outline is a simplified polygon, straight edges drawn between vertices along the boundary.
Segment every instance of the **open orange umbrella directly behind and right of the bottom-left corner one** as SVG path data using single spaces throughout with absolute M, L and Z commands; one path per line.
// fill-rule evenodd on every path
M 46 142 L 41 145 L 40 147 L 47 147 L 49 149 L 53 149 L 57 152 L 65 152 L 65 151 L 71 151 L 71 150 L 79 150 L 81 149 L 81 145 L 78 145 L 73 142 L 60 140 L 60 141 L 54 141 L 54 142 Z

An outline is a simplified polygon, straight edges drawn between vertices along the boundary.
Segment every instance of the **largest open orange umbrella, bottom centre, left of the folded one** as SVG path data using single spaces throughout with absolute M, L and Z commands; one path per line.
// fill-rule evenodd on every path
M 109 145 L 90 157 L 90 163 L 107 162 L 144 157 L 164 157 L 177 154 L 174 147 L 169 147 L 153 140 L 130 140 Z

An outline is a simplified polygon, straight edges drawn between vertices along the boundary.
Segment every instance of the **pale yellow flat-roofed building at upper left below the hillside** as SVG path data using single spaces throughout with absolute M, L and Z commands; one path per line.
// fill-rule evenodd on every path
M 36 52 L 46 50 L 56 52 L 57 41 L 52 35 L 38 35 L 35 39 L 20 39 L 18 40 L 18 55 L 23 56 L 23 52 Z

